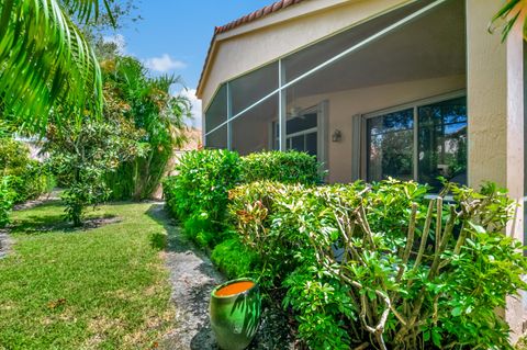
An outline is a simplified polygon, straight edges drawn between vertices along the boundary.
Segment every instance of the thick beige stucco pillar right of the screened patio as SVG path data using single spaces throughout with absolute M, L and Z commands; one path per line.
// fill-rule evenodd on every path
M 523 204 L 524 196 L 524 79 L 523 21 L 506 44 L 485 32 L 502 1 L 467 0 L 469 184 L 495 181 Z M 507 235 L 523 240 L 523 210 L 517 207 Z M 505 318 L 514 335 L 527 320 L 524 301 L 507 297 Z

